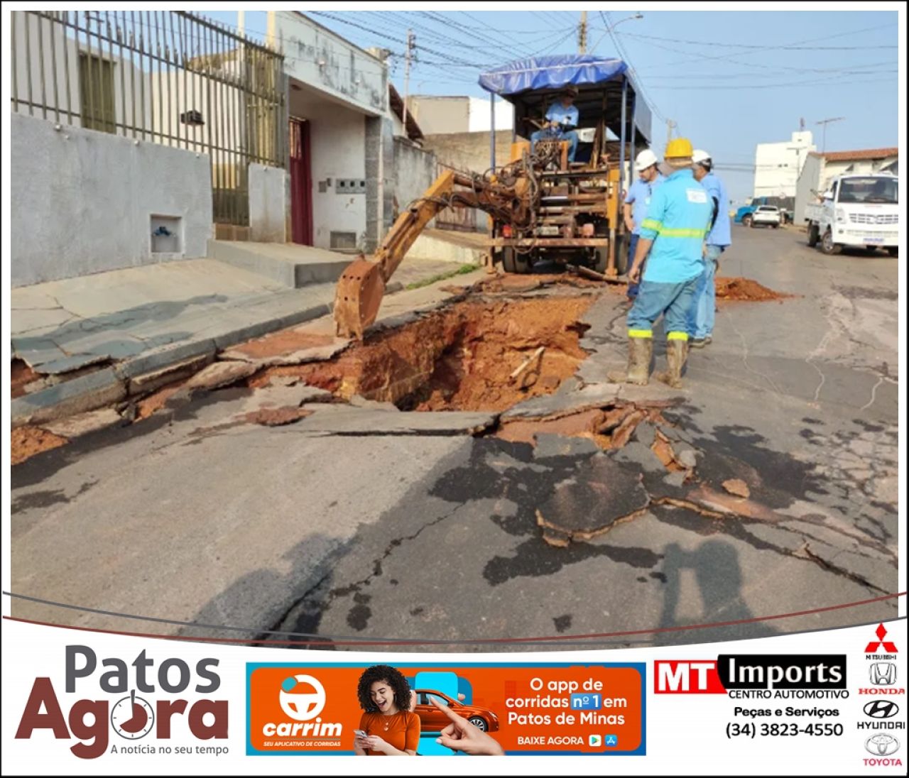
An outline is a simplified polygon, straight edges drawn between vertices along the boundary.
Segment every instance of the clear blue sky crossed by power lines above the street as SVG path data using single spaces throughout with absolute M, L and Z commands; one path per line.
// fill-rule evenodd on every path
M 485 67 L 577 51 L 579 11 L 418 7 L 301 10 L 356 45 L 391 49 L 399 92 L 403 42 L 413 29 L 411 94 L 486 97 L 476 83 Z M 203 13 L 236 23 L 235 11 Z M 752 192 L 754 145 L 789 140 L 800 119 L 820 147 L 815 123 L 844 117 L 827 126 L 828 151 L 898 145 L 896 11 L 663 11 L 644 4 L 643 18 L 627 18 L 634 13 L 588 11 L 588 51 L 632 65 L 654 110 L 654 149 L 662 151 L 665 120 L 673 120 L 674 135 L 714 156 L 735 200 Z M 254 35 L 265 31 L 265 13 L 247 12 L 246 25 Z

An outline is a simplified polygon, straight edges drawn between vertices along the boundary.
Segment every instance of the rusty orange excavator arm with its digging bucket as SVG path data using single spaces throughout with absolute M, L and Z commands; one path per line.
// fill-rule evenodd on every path
M 458 191 L 455 187 L 462 186 Z M 479 208 L 511 218 L 527 212 L 526 179 L 512 185 L 471 177 L 447 170 L 425 193 L 398 216 L 371 259 L 361 254 L 349 264 L 338 280 L 335 292 L 337 334 L 361 339 L 375 322 L 385 294 L 385 284 L 402 263 L 407 250 L 435 215 L 449 206 Z M 522 207 L 523 206 L 523 207 Z

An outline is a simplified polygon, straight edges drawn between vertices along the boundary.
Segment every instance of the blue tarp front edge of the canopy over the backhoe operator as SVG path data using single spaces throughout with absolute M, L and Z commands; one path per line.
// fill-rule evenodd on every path
M 527 89 L 557 89 L 573 84 L 602 84 L 628 69 L 621 59 L 592 54 L 564 54 L 519 59 L 480 75 L 480 85 L 496 95 Z

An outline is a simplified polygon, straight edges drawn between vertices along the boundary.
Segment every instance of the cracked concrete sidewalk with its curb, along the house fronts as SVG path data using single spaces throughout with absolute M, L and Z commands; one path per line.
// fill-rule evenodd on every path
M 458 266 L 405 261 L 388 292 Z M 13 425 L 59 419 L 148 391 L 233 344 L 329 314 L 334 297 L 334 283 L 291 289 L 214 259 L 13 289 L 13 357 L 34 371 L 14 387 Z

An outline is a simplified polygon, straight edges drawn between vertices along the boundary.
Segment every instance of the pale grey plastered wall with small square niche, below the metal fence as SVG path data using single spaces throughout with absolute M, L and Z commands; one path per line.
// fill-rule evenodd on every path
M 208 157 L 107 133 L 11 117 L 14 286 L 205 256 Z M 153 254 L 151 216 L 182 219 L 182 251 Z

